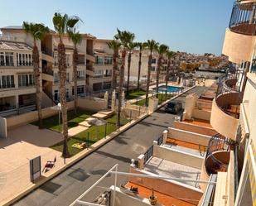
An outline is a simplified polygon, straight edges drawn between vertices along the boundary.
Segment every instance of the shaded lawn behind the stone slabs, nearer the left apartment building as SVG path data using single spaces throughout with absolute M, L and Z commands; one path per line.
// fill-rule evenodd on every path
M 85 121 L 86 118 L 90 117 L 93 112 L 85 111 L 78 109 L 77 114 L 75 114 L 74 110 L 68 112 L 68 127 L 76 127 L 80 122 Z M 60 120 L 61 122 L 61 120 Z M 38 122 L 32 122 L 31 124 L 38 126 Z M 43 127 L 46 129 L 50 129 L 56 132 L 60 132 L 62 130 L 62 124 L 59 125 L 59 115 L 48 117 L 43 119 Z

